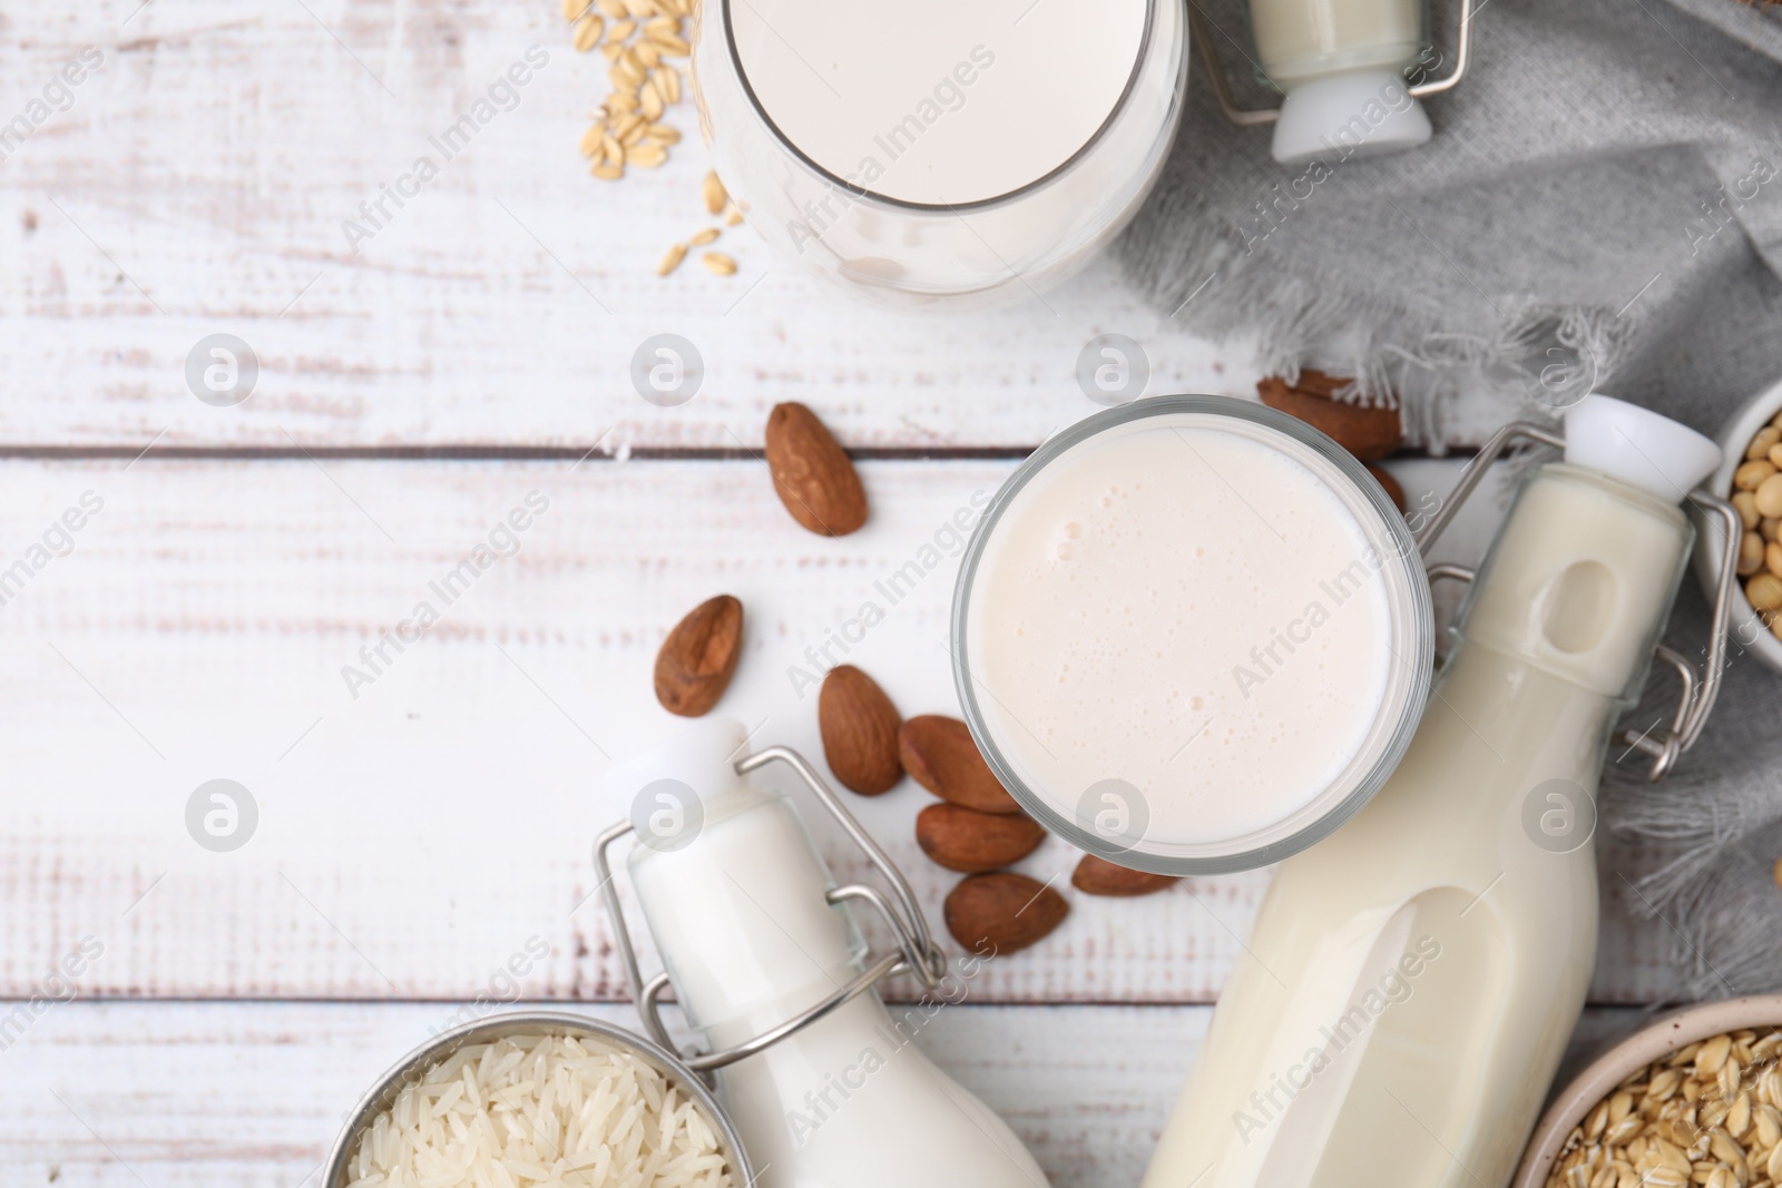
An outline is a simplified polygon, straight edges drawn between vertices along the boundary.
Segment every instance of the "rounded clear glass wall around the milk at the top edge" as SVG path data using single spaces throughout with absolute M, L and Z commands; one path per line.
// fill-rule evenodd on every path
M 877 305 L 971 308 L 1057 285 L 1135 214 L 1174 141 L 1187 78 L 1183 9 L 1176 0 L 1144 0 L 1142 36 L 1124 89 L 1105 121 L 1062 164 L 989 198 L 893 198 L 873 189 L 868 180 L 873 167 L 852 169 L 854 180 L 838 176 L 770 118 L 770 105 L 754 85 L 761 80 L 752 80 L 745 68 L 754 53 L 750 37 L 779 36 L 764 23 L 761 5 L 763 0 L 709 0 L 700 9 L 693 43 L 700 132 L 750 226 L 788 260 Z M 1083 21 L 1101 16 L 1076 11 Z M 921 18 L 912 12 L 909 20 Z M 966 59 L 960 66 L 957 77 L 971 77 Z M 948 98 L 959 89 L 944 75 L 937 85 Z M 982 84 L 980 93 L 985 93 Z M 928 98 L 912 96 L 911 109 L 943 110 L 941 118 L 953 121 L 980 114 L 969 107 L 953 109 L 957 114 L 930 109 Z M 1007 110 L 996 114 L 1009 118 Z M 964 126 L 959 123 L 950 134 Z M 895 144 L 875 144 L 882 137 L 870 130 L 861 130 L 859 139 L 862 166 L 868 155 L 889 166 Z M 982 151 L 1012 150 L 1003 142 L 984 144 Z

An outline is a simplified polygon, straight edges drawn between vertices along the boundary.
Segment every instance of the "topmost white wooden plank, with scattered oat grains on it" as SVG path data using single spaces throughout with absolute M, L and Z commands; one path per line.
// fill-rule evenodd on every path
M 855 447 L 1032 447 L 1096 408 L 1075 372 L 1103 333 L 1142 344 L 1151 394 L 1255 394 L 1246 344 L 1181 331 L 1107 262 L 948 317 L 841 297 L 747 226 L 720 240 L 738 276 L 656 278 L 709 221 L 691 109 L 663 169 L 592 180 L 576 142 L 606 62 L 570 50 L 549 0 L 110 7 L 125 27 L 34 5 L 0 28 L 20 105 L 80 46 L 105 55 L 0 169 L 0 367 L 20 397 L 0 445 L 731 449 L 805 401 Z M 429 137 L 531 45 L 549 62 L 519 105 L 355 251 L 360 203 L 438 157 Z M 679 408 L 629 378 L 665 331 L 704 358 Z M 237 408 L 187 388 L 214 333 L 260 365 Z

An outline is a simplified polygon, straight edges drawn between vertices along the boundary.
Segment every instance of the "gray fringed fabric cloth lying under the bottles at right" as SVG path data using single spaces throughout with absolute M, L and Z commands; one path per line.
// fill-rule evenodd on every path
M 1238 0 L 1190 0 L 1240 102 Z M 1435 0 L 1451 53 L 1456 0 Z M 1194 59 L 1181 135 L 1121 239 L 1132 281 L 1176 324 L 1253 337 L 1272 374 L 1356 376 L 1442 452 L 1452 411 L 1509 420 L 1595 388 L 1718 435 L 1782 379 L 1782 5 L 1484 0 L 1474 62 L 1426 100 L 1435 137 L 1395 157 L 1278 166 L 1269 126 L 1230 125 Z M 1440 77 L 1449 62 L 1431 64 Z M 1688 582 L 1670 629 L 1702 655 Z M 1670 707 L 1654 680 L 1647 721 Z M 1638 759 L 1638 755 L 1634 755 Z M 1782 989 L 1782 679 L 1734 657 L 1714 720 L 1661 785 L 1611 764 L 1604 818 L 1657 848 L 1606 867 L 1663 917 L 1689 996 Z M 1632 853 L 1609 846 L 1613 862 Z

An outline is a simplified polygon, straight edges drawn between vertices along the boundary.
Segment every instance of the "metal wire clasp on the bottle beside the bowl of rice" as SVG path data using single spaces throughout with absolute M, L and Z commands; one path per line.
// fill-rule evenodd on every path
M 823 1001 L 750 1040 L 715 1053 L 683 1053 L 683 1062 L 695 1072 L 722 1069 L 723 1065 L 736 1063 L 745 1056 L 754 1056 L 764 1047 L 770 1047 L 788 1035 L 811 1026 L 818 1019 L 823 1019 L 845 1003 L 854 1001 L 891 974 L 912 972 L 918 980 L 921 980 L 921 985 L 930 990 L 941 985 L 941 978 L 946 976 L 946 955 L 941 953 L 941 946 L 937 946 L 934 937 L 928 933 L 928 921 L 923 917 L 921 905 L 916 901 L 916 892 L 911 891 L 903 873 L 896 869 L 891 857 L 879 848 L 879 842 L 875 842 L 871 835 L 861 828 L 861 823 L 854 819 L 854 814 L 846 810 L 841 798 L 836 796 L 834 789 L 823 782 L 804 755 L 789 746 L 768 746 L 766 750 L 759 750 L 754 755 L 736 761 L 736 773 L 748 775 L 756 768 L 764 768 L 775 761 L 791 768 L 793 773 L 804 780 L 804 785 L 811 789 L 818 803 L 822 803 L 823 809 L 836 818 L 848 839 L 866 853 L 873 867 L 877 867 L 884 880 L 891 883 L 891 899 L 887 899 L 877 887 L 868 887 L 864 883 L 834 887 L 825 894 L 830 907 L 839 907 L 848 901 L 868 903 L 891 926 L 891 932 L 898 940 L 898 948 L 895 953 L 886 953 L 879 960 L 871 962 L 857 978 Z M 668 972 L 663 971 L 649 981 L 643 980 L 643 971 L 638 967 L 638 951 L 636 946 L 631 944 L 631 930 L 625 928 L 625 915 L 618 903 L 618 889 L 613 887 L 613 867 L 606 857 L 608 848 L 631 832 L 631 823 L 622 821 L 595 839 L 593 873 L 601 880 L 601 899 L 606 903 L 608 919 L 613 921 L 613 939 L 618 944 L 618 956 L 625 965 L 625 980 L 631 983 L 631 997 L 638 1005 L 638 1015 L 643 1017 L 643 1029 L 649 1031 L 652 1040 L 668 1051 L 679 1051 L 668 1037 L 668 1028 L 663 1026 L 661 1021 L 659 999 L 663 990 L 668 989 Z

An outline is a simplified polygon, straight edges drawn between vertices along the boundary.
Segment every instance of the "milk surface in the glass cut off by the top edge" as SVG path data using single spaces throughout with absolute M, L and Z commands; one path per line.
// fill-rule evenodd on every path
M 998 198 L 1071 159 L 1112 114 L 1144 0 L 729 0 L 741 73 L 829 173 L 925 205 Z

